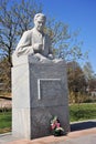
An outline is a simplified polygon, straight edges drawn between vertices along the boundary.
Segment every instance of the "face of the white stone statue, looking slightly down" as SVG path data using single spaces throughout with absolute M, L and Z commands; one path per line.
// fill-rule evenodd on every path
M 45 20 L 42 19 L 41 17 L 39 17 L 35 21 L 34 21 L 34 25 L 38 31 L 42 32 L 43 28 L 45 25 Z

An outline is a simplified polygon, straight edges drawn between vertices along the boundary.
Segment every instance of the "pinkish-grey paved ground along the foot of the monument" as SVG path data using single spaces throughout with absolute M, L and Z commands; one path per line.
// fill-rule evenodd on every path
M 96 144 L 96 127 L 74 131 L 66 136 L 46 136 L 32 141 L 18 140 L 11 134 L 0 135 L 0 144 Z

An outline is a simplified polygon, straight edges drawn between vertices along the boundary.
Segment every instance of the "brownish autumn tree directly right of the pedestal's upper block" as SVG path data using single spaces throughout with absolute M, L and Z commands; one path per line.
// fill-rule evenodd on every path
M 87 83 L 83 70 L 75 61 L 67 63 L 67 76 L 71 101 L 82 101 L 82 95 L 86 92 Z

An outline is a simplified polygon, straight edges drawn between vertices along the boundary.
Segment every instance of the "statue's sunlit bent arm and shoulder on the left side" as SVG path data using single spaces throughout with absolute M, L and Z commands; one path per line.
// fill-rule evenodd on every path
M 33 52 L 33 48 L 32 48 L 32 43 L 31 43 L 31 32 L 30 31 L 25 31 L 20 40 L 20 42 L 18 43 L 18 47 L 15 49 L 15 54 L 22 55 L 22 54 L 29 54 L 29 53 L 34 53 Z

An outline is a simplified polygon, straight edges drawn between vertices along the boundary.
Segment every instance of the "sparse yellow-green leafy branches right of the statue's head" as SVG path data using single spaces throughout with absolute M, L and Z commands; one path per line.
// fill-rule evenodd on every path
M 86 53 L 82 52 L 83 41 L 78 41 L 79 31 L 70 31 L 68 24 L 49 18 L 46 31 L 52 40 L 52 48 L 56 58 L 66 61 L 84 59 Z

